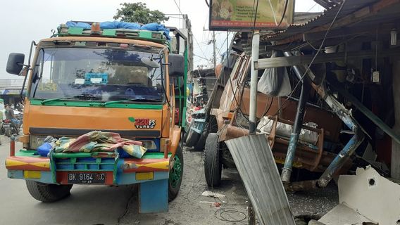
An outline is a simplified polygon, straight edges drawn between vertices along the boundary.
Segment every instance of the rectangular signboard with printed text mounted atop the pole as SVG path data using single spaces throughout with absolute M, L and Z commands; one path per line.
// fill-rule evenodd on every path
M 211 0 L 210 30 L 285 30 L 293 22 L 294 0 Z M 279 27 L 278 27 L 279 25 Z

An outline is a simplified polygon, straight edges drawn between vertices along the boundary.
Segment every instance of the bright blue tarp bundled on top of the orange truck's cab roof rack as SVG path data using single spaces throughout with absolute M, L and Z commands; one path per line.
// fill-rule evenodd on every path
M 68 27 L 82 27 L 84 29 L 90 29 L 89 23 L 73 22 L 68 21 L 66 23 Z M 165 28 L 164 25 L 159 23 L 148 23 L 140 25 L 139 23 L 127 23 L 123 21 L 106 21 L 100 23 L 100 29 L 131 29 L 131 30 L 150 30 L 150 31 L 162 31 L 165 37 L 170 40 L 170 30 Z

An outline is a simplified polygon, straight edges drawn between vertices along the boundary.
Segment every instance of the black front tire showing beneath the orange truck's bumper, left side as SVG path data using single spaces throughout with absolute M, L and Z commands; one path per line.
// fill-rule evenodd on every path
M 52 203 L 61 198 L 70 195 L 72 184 L 57 185 L 57 184 L 44 184 L 37 181 L 26 180 L 27 191 L 36 200 L 43 203 Z

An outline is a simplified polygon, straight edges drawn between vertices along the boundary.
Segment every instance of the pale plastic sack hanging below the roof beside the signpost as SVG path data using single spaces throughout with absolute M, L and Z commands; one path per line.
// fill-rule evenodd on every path
M 271 58 L 276 57 L 273 52 Z M 266 68 L 258 80 L 257 90 L 270 96 L 287 96 L 292 91 L 286 68 Z

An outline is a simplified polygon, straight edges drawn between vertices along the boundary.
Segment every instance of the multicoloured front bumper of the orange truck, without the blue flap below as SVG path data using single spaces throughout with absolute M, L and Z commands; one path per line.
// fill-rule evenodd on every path
M 105 173 L 105 185 L 137 184 L 169 178 L 170 159 L 164 158 L 164 153 L 145 153 L 142 159 L 88 158 L 89 153 L 53 153 L 44 158 L 35 155 L 35 151 L 20 150 L 15 156 L 6 158 L 6 168 L 9 178 L 45 184 L 68 184 L 70 172 Z

